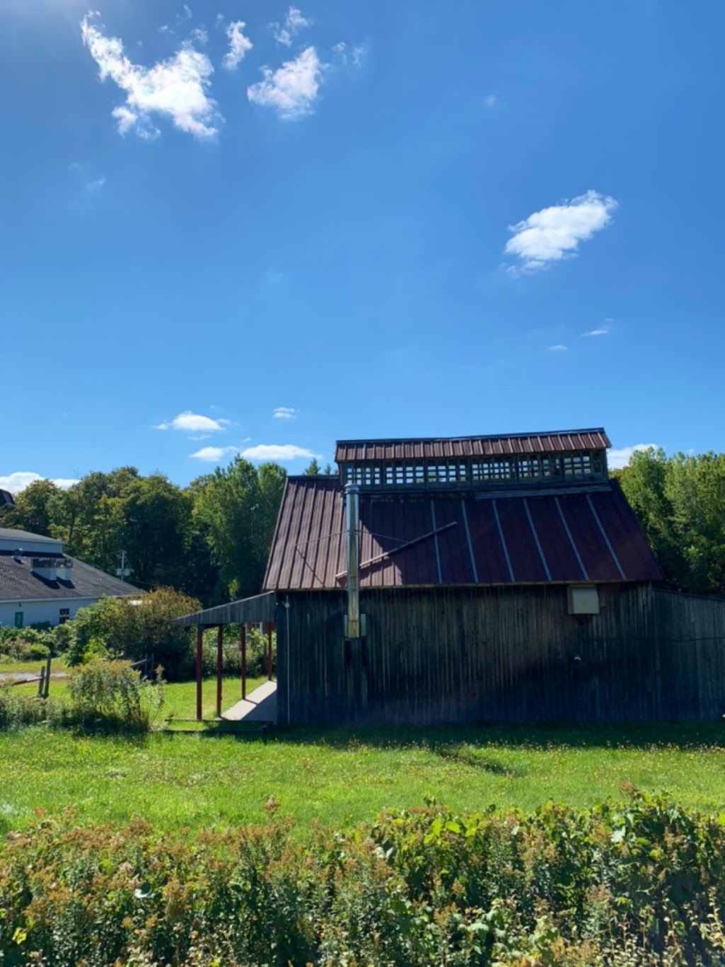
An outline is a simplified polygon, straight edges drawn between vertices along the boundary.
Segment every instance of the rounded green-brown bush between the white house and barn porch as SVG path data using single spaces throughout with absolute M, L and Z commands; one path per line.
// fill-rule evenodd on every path
M 170 588 L 140 598 L 102 598 L 64 626 L 70 629 L 64 632 L 69 636 L 66 660 L 72 666 L 103 655 L 137 661 L 153 652 L 166 678 L 178 681 L 191 674 L 193 655 L 188 628 L 174 621 L 200 607 L 199 601 Z

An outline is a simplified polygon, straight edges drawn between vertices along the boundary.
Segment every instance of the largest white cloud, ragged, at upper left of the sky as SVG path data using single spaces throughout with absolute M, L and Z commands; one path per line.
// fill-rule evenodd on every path
M 186 42 L 173 57 L 153 67 L 133 64 L 124 44 L 117 37 L 106 37 L 92 22 L 97 15 L 83 17 L 81 36 L 99 66 L 101 79 L 110 77 L 126 94 L 126 103 L 112 111 L 119 132 L 156 137 L 159 130 L 151 118 L 157 114 L 170 118 L 180 131 L 199 138 L 214 137 L 222 119 L 216 101 L 209 96 L 214 68 L 207 55 Z

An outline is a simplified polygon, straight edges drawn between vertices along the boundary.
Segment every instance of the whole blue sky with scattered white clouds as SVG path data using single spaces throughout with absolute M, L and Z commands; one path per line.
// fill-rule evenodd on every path
M 0 485 L 725 449 L 721 4 L 94 2 L 0 4 Z

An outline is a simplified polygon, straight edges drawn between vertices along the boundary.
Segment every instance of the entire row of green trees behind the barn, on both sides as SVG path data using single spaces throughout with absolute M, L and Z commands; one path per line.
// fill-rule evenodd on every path
M 320 473 L 316 460 L 305 473 Z M 671 586 L 725 596 L 725 454 L 652 449 L 612 476 Z M 285 479 L 277 464 L 239 456 L 187 487 L 120 467 L 69 490 L 31 484 L 3 524 L 59 538 L 68 554 L 111 574 L 125 550 L 132 584 L 172 587 L 206 607 L 259 593 Z

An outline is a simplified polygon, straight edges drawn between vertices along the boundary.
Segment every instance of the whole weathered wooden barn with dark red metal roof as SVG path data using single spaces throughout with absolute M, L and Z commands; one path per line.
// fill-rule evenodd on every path
M 609 446 L 339 442 L 288 478 L 263 594 L 180 621 L 275 623 L 281 724 L 722 715 L 725 602 L 661 588 Z

